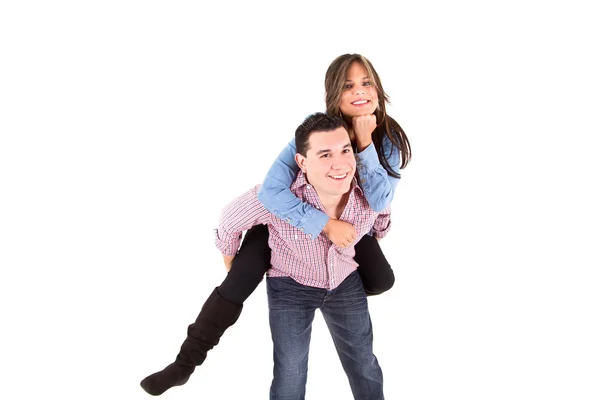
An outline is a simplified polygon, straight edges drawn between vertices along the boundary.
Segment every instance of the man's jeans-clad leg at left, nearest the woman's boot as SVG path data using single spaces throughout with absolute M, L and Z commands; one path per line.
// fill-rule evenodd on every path
M 303 400 L 312 321 L 325 290 L 288 277 L 267 278 L 267 294 L 274 363 L 270 399 Z

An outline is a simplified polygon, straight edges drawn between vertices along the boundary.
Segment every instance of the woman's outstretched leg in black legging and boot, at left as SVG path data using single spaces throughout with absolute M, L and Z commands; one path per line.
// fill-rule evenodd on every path
M 175 362 L 140 383 L 146 392 L 158 396 L 173 386 L 186 383 L 196 366 L 204 362 L 206 353 L 237 321 L 244 301 L 270 268 L 268 238 L 266 225 L 257 225 L 246 232 L 227 277 L 208 297 L 196 321 L 188 326 L 187 338 Z

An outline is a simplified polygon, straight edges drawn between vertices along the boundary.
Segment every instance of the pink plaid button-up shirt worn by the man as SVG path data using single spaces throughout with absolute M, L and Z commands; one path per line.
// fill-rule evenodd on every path
M 266 224 L 272 250 L 269 277 L 289 276 L 302 285 L 332 290 L 358 266 L 354 261 L 354 245 L 369 232 L 379 239 L 390 229 L 389 207 L 380 213 L 373 211 L 356 179 L 340 217 L 354 225 L 358 232 L 356 240 L 346 248 L 337 247 L 322 232 L 313 240 L 310 234 L 268 212 L 258 201 L 259 188 L 260 185 L 255 186 L 225 207 L 216 229 L 215 243 L 223 254 L 234 256 L 240 247 L 242 232 L 254 225 Z M 302 172 L 290 189 L 303 201 L 324 209 L 316 190 Z

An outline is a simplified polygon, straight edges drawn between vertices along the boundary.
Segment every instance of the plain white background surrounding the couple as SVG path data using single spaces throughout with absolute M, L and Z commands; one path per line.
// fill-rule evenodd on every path
M 356 52 L 414 151 L 370 299 L 386 398 L 599 399 L 593 2 L 212 3 L 0 6 L 0 396 L 150 398 L 225 276 L 220 210 Z M 162 397 L 266 399 L 271 368 L 263 281 Z M 307 399 L 349 398 L 317 316 Z

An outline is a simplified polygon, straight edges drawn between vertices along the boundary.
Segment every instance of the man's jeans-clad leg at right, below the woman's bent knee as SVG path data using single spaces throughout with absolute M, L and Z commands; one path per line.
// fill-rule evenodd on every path
M 373 354 L 373 328 L 358 272 L 327 295 L 321 307 L 355 399 L 382 400 L 383 374 Z

